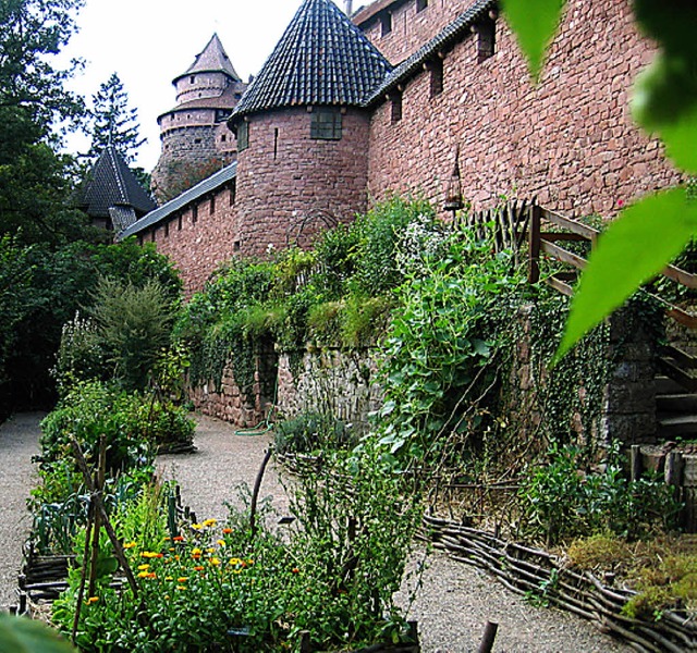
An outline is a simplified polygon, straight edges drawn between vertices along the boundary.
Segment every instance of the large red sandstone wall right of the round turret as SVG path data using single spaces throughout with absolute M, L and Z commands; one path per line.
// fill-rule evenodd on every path
M 628 88 L 652 48 L 637 35 L 628 0 L 572 0 L 538 87 L 503 20 L 496 54 L 478 64 L 476 48 L 470 36 L 448 54 L 442 95 L 429 97 L 427 73 L 409 82 L 399 123 L 390 124 L 389 102 L 376 111 L 372 197 L 421 190 L 442 206 L 456 145 L 474 208 L 506 194 L 610 217 L 680 181 L 629 115 Z

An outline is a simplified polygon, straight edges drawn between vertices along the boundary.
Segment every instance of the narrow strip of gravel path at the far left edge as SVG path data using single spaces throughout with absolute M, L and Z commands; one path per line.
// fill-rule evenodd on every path
M 32 528 L 26 500 L 37 480 L 32 456 L 39 453 L 42 417 L 37 412 L 16 415 L 0 426 L 0 609 L 16 603 L 22 545 Z

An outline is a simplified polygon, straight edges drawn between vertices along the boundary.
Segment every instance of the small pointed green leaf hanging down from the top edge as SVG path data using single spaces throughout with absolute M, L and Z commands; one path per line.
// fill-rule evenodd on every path
M 527 57 L 530 75 L 539 78 L 545 52 L 559 27 L 565 0 L 504 0 L 506 22 Z

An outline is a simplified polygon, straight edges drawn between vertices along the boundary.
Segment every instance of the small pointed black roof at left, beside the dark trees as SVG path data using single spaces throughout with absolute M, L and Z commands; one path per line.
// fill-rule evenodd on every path
M 97 159 L 77 192 L 75 205 L 90 218 L 108 219 L 115 207 L 130 207 L 140 217 L 157 206 L 113 145 Z

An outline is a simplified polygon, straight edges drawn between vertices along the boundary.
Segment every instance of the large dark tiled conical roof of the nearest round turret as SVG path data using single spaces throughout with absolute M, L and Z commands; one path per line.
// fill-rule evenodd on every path
M 232 119 L 283 107 L 360 107 L 390 70 L 331 0 L 305 0 Z

